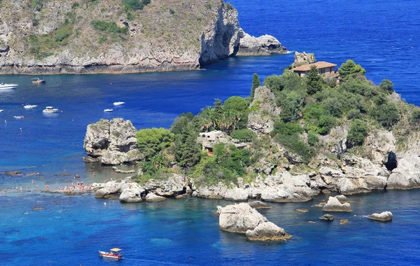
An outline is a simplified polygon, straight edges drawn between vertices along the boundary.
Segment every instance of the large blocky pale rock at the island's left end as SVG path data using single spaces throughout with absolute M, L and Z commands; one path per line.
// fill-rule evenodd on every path
M 88 125 L 83 144 L 87 153 L 85 162 L 98 160 L 104 165 L 119 165 L 140 160 L 136 132 L 131 121 L 123 118 Z

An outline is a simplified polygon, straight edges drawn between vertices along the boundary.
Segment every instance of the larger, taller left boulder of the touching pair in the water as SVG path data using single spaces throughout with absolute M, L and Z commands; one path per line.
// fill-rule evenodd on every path
M 228 232 L 244 233 L 267 222 L 267 218 L 246 203 L 218 207 L 218 214 L 219 227 Z

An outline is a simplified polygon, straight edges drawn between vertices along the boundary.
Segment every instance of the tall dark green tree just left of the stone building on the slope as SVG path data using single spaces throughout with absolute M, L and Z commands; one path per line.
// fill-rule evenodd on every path
M 177 165 L 183 169 L 190 169 L 200 162 L 200 144 L 197 143 L 198 134 L 192 125 L 184 127 L 181 134 L 175 137 L 174 156 Z

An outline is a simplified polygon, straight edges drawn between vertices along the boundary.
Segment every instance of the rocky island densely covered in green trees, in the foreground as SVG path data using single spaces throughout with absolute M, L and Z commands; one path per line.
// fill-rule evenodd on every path
M 286 69 L 260 85 L 255 75 L 250 97 L 216 99 L 170 130 L 137 131 L 120 118 L 89 125 L 85 149 L 103 164 L 137 164 L 134 197 L 305 202 L 319 193 L 419 188 L 420 109 L 391 81 L 374 85 L 364 74 L 349 60 L 337 78 Z M 337 196 L 323 210 L 351 207 Z

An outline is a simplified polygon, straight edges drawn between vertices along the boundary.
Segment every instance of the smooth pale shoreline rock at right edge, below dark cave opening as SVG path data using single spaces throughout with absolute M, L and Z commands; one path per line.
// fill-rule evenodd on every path
M 388 177 L 388 189 L 420 188 L 420 157 L 407 155 L 398 160 L 397 168 Z

